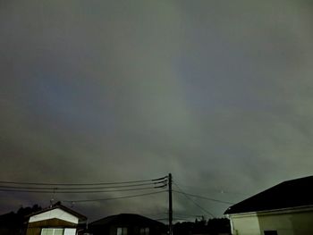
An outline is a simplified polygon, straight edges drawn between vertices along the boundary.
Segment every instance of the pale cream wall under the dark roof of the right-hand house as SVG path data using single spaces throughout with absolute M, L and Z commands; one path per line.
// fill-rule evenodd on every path
M 307 208 L 230 217 L 233 235 L 264 235 L 264 231 L 277 231 L 278 235 L 313 234 L 313 210 Z

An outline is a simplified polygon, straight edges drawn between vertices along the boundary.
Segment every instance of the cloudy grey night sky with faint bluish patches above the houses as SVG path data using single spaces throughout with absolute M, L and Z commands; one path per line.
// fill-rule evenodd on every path
M 312 175 L 312 11 L 305 0 L 0 0 L 0 180 L 171 172 L 175 190 L 237 203 Z M 0 213 L 136 193 L 147 191 L 0 191 Z M 164 218 L 167 203 L 164 193 L 72 208 L 91 221 Z M 175 218 L 228 206 L 173 195 Z

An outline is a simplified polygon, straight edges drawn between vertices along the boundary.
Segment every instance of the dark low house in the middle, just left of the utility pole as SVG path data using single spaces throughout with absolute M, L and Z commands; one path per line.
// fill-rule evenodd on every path
M 93 235 L 163 235 L 167 228 L 139 214 L 116 214 L 89 223 Z

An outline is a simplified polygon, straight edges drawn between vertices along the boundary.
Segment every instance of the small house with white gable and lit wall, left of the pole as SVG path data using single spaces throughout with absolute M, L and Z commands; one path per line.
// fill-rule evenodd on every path
M 30 214 L 26 235 L 76 235 L 86 227 L 87 217 L 56 204 Z

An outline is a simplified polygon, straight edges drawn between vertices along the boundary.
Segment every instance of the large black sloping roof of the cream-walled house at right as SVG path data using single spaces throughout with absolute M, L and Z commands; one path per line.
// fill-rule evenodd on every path
M 313 176 L 283 181 L 229 207 L 224 214 L 241 214 L 298 206 L 313 206 Z

